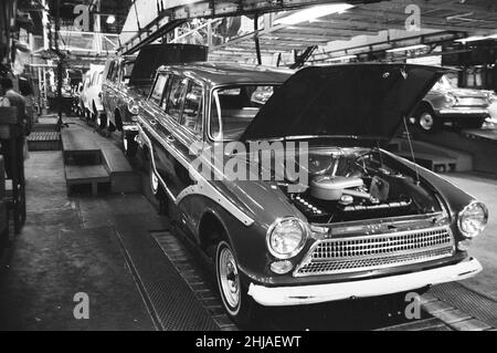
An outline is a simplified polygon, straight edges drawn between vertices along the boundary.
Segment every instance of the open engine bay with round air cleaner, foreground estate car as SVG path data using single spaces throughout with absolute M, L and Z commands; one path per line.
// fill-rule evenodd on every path
M 413 176 L 391 166 L 379 148 L 318 149 L 308 156 L 309 185 L 287 193 L 309 222 L 420 215 L 441 210 Z

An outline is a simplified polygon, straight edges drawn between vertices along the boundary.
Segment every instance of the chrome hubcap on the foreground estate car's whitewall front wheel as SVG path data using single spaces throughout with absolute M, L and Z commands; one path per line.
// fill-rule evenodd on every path
M 240 277 L 236 261 L 230 249 L 224 248 L 219 256 L 219 277 L 223 297 L 231 308 L 240 302 Z

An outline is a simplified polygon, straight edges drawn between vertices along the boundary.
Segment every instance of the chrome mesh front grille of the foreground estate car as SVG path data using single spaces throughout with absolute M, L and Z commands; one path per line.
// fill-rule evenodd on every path
M 318 240 L 294 276 L 335 274 L 425 262 L 454 253 L 448 227 Z

